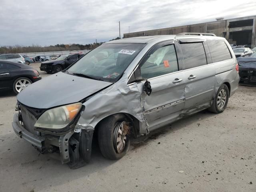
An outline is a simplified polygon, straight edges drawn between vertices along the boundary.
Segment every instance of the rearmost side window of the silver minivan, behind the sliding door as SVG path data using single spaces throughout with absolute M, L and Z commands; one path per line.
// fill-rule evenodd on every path
M 212 62 L 220 62 L 231 59 L 228 46 L 222 40 L 207 40 L 208 47 L 211 52 Z

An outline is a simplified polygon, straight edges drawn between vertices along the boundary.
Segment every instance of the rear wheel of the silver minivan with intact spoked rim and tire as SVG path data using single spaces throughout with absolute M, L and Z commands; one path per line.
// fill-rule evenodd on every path
M 226 84 L 222 84 L 213 100 L 212 106 L 208 109 L 213 113 L 222 113 L 228 104 L 229 90 Z

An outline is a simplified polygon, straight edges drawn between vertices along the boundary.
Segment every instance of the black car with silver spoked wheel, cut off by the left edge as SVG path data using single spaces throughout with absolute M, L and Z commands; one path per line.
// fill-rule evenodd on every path
M 18 94 L 40 79 L 39 72 L 30 66 L 0 60 L 0 90 L 13 90 Z

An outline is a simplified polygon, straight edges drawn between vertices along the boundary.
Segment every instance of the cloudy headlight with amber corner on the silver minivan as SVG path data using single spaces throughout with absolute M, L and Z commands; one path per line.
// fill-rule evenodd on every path
M 36 121 L 35 127 L 61 129 L 66 127 L 78 114 L 82 103 L 74 103 L 49 109 Z

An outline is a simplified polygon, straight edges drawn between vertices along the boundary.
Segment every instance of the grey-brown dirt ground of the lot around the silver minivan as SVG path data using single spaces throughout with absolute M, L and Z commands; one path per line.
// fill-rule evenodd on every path
M 256 87 L 239 86 L 222 114 L 202 111 L 134 140 L 120 160 L 94 145 L 76 170 L 14 134 L 15 104 L 14 94 L 0 95 L 0 192 L 256 191 Z

